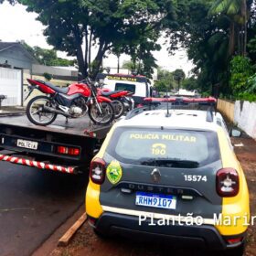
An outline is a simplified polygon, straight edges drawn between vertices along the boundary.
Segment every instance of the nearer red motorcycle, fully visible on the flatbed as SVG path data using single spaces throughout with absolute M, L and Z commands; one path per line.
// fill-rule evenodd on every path
M 87 112 L 91 121 L 97 124 L 112 123 L 114 109 L 112 101 L 97 95 L 97 88 L 90 80 L 70 84 L 59 88 L 48 81 L 27 80 L 30 93 L 37 90 L 48 96 L 37 96 L 27 104 L 27 118 L 37 125 L 53 123 L 58 114 L 68 118 L 80 118 Z

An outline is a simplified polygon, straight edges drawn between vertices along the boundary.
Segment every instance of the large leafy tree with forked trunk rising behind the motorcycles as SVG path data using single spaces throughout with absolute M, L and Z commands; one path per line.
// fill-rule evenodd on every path
M 37 20 L 47 28 L 45 36 L 54 48 L 68 52 L 78 60 L 83 77 L 95 77 L 101 69 L 106 52 L 119 45 L 120 41 L 131 42 L 133 31 L 156 27 L 160 23 L 167 0 L 18 0 L 27 5 L 27 11 L 38 14 Z M 153 29 L 153 28 L 151 28 Z M 83 48 L 83 42 L 85 47 Z M 91 59 L 91 48 L 97 48 Z

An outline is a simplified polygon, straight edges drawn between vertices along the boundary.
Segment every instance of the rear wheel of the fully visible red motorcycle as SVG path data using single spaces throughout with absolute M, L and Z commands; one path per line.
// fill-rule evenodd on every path
M 27 104 L 27 118 L 31 123 L 46 126 L 53 123 L 57 113 L 46 112 L 44 106 L 52 107 L 52 102 L 47 96 L 37 96 Z

